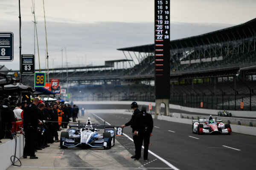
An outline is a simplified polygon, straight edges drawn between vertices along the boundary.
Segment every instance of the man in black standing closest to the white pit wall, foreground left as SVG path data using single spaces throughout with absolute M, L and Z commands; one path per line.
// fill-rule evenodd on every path
M 23 150 L 23 158 L 30 156 L 30 159 L 38 159 L 35 156 L 35 134 L 37 126 L 41 125 L 41 120 L 38 119 L 39 98 L 35 98 L 33 103 L 28 105 L 23 113 L 23 128 L 25 132 L 25 147 Z

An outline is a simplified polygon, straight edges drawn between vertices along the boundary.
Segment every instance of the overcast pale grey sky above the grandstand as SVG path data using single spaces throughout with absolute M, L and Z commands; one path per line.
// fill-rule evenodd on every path
M 22 54 L 34 54 L 32 0 L 20 0 Z M 0 0 L 0 31 L 14 33 L 14 60 L 0 62 L 19 69 L 18 0 Z M 154 43 L 154 0 L 44 0 L 49 68 L 104 65 L 125 59 L 122 51 Z M 256 17 L 256 0 L 171 0 L 171 40 L 245 23 Z M 35 0 L 41 69 L 45 68 L 46 38 L 43 0 Z M 63 49 L 63 57 L 61 56 Z M 37 45 L 36 69 L 39 68 Z

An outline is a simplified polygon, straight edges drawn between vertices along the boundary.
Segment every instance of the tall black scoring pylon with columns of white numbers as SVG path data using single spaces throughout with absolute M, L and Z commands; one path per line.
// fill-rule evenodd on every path
M 169 116 L 170 98 L 170 0 L 155 0 L 155 116 L 160 113 L 160 104 L 165 104 Z

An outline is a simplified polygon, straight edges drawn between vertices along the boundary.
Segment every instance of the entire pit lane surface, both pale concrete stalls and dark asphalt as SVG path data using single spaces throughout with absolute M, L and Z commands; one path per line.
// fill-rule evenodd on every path
M 111 125 L 120 126 L 131 119 L 131 115 L 88 113 L 82 122 L 90 116 L 93 123 L 102 123 L 102 119 Z M 96 120 L 96 121 L 95 121 Z M 132 138 L 131 128 L 125 127 L 123 132 Z M 103 148 L 69 147 L 60 149 L 59 143 L 38 150 L 39 159 L 21 158 L 22 170 L 40 169 L 172 169 L 159 158 L 179 170 L 254 169 L 256 136 L 232 133 L 231 135 L 197 135 L 192 133 L 192 125 L 167 122 L 154 119 L 153 136 L 149 150 L 150 161 L 134 161 L 134 144 L 126 136 L 116 136 L 116 144 L 110 150 Z M 60 136 L 60 135 L 59 135 Z M 143 155 L 143 149 L 142 149 Z M 17 162 L 16 162 L 17 164 Z M 11 166 L 8 170 L 15 170 Z

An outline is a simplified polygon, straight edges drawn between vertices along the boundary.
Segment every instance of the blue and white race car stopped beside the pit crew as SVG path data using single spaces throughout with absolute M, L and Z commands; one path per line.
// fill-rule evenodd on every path
M 98 134 L 100 129 L 104 129 L 103 134 Z M 67 132 L 61 132 L 61 148 L 90 146 L 110 149 L 114 144 L 114 126 L 105 125 L 105 123 L 92 124 L 90 118 L 88 118 L 86 124 L 78 123 L 76 125 L 70 125 Z

